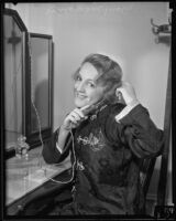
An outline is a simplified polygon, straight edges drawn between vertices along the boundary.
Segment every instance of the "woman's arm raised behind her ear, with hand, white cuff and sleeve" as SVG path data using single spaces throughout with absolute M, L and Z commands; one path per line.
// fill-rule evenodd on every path
M 127 145 L 139 157 L 151 157 L 160 155 L 164 145 L 163 130 L 158 129 L 152 122 L 150 114 L 136 99 L 135 92 L 129 83 L 118 88 L 125 102 L 121 113 L 112 115 L 107 120 L 107 135 L 113 143 L 121 141 Z

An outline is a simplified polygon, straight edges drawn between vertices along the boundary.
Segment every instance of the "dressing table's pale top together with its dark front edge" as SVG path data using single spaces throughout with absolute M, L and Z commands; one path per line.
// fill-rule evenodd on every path
M 62 186 L 50 178 L 69 180 L 69 157 L 59 165 L 51 166 L 40 154 L 41 147 L 31 149 L 28 159 L 12 157 L 7 160 L 4 181 L 7 215 L 15 215 L 35 196 L 44 193 L 50 188 Z

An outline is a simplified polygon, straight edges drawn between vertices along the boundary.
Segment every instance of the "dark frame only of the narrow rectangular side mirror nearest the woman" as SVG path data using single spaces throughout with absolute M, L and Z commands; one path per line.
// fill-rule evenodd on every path
M 53 36 L 48 34 L 41 33 L 29 33 L 30 38 L 45 39 L 48 41 L 48 127 L 41 129 L 41 135 L 43 141 L 47 140 L 53 133 Z M 29 50 L 30 51 L 30 50 Z M 29 64 L 31 64 L 31 57 L 29 59 Z M 31 65 L 30 65 L 30 82 L 31 82 Z M 32 101 L 31 101 L 32 85 L 30 84 L 28 94 L 29 99 L 26 101 L 26 141 L 30 147 L 36 147 L 42 145 L 40 139 L 40 131 L 32 131 Z

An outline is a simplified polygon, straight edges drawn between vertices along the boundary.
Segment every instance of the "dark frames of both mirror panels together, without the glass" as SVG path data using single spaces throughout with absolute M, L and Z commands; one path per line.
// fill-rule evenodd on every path
M 3 9 L 2 11 L 2 22 L 4 15 L 10 15 L 14 19 L 16 22 L 19 29 L 23 33 L 23 41 L 22 41 L 22 134 L 26 137 L 26 143 L 30 145 L 30 148 L 35 148 L 42 145 L 40 139 L 40 131 L 32 131 L 32 122 L 31 122 L 31 57 L 30 57 L 30 38 L 42 38 L 50 41 L 48 44 L 48 123 L 50 126 L 41 130 L 42 139 L 43 141 L 50 139 L 53 133 L 53 36 L 48 34 L 40 34 L 40 33 L 29 33 L 25 24 L 23 23 L 22 19 L 20 18 L 19 13 L 13 9 Z M 4 23 L 2 23 L 4 25 Z M 3 36 L 3 35 L 2 35 Z M 3 76 L 3 87 L 2 87 L 2 102 L 3 102 L 3 133 L 2 133 L 2 139 L 4 141 L 3 147 L 6 146 L 6 120 L 4 120 L 4 45 L 2 41 L 2 73 Z M 9 159 L 15 155 L 14 148 L 6 149 L 4 147 L 4 157 L 6 159 Z

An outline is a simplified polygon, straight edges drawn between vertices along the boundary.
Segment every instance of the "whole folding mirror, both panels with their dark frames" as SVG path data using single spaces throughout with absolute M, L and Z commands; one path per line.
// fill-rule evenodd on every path
M 15 10 L 3 11 L 4 146 L 14 156 L 23 135 L 30 148 L 53 128 L 53 38 L 29 33 Z

